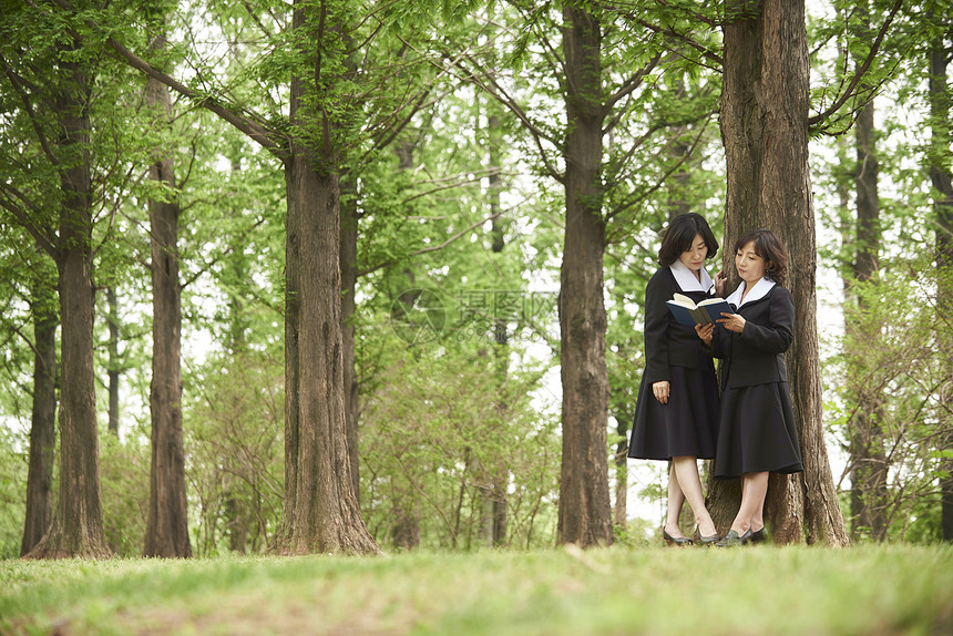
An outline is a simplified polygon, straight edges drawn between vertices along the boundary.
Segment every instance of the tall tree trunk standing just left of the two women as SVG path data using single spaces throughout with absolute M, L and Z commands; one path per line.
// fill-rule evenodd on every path
M 566 229 L 560 287 L 563 457 L 559 541 L 612 543 L 608 371 L 603 300 L 601 32 L 582 9 L 563 12 L 566 68 Z

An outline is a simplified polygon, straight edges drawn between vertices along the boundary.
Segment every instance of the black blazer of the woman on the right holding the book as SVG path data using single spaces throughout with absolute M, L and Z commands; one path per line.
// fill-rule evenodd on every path
M 795 300 L 775 285 L 768 295 L 736 307 L 746 322 L 740 334 L 715 327 L 711 355 L 724 358 L 721 390 L 752 384 L 787 382 L 785 351 L 795 338 Z

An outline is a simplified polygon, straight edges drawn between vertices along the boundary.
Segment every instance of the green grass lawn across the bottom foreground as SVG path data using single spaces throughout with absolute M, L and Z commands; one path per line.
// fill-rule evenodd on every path
M 2 634 L 953 634 L 953 547 L 0 562 Z

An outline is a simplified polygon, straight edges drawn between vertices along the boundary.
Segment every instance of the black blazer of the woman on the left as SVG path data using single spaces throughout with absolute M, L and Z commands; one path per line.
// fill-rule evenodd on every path
M 667 266 L 648 280 L 645 288 L 645 380 L 649 383 L 670 380 L 669 367 L 714 372 L 711 358 L 701 348 L 698 334 L 693 327 L 680 325 L 665 304 L 676 293 L 696 302 L 710 298 L 704 291 L 683 291 Z

